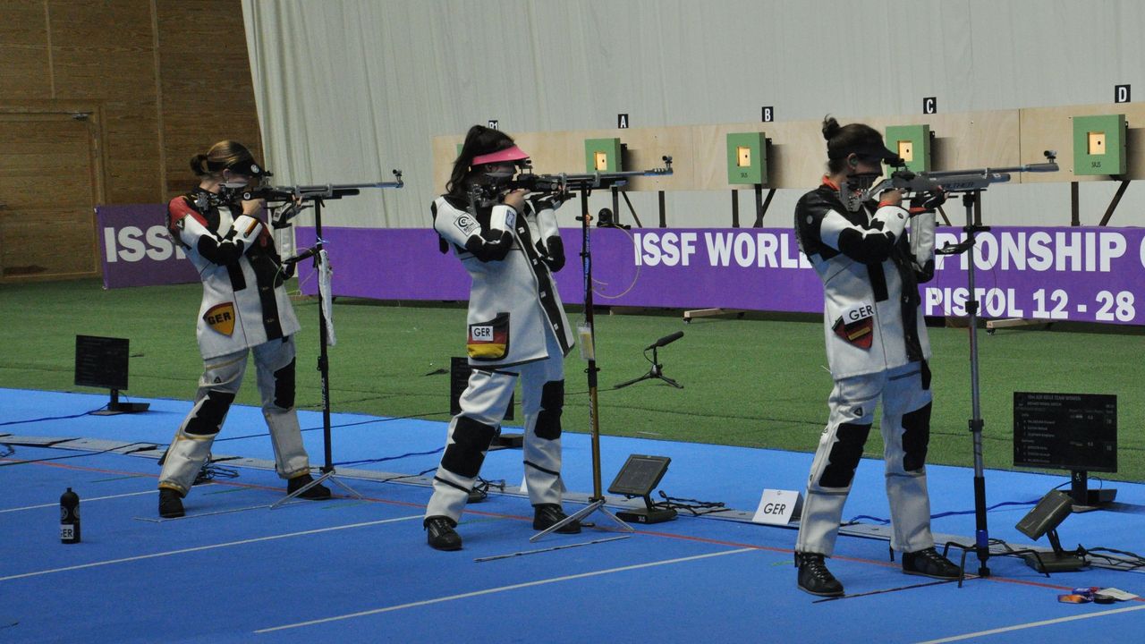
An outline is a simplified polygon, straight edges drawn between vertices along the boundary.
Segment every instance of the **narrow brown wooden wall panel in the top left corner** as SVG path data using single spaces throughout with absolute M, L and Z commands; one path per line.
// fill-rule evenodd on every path
M 0 19 L 0 96 L 50 99 L 48 21 L 44 0 L 6 0 Z

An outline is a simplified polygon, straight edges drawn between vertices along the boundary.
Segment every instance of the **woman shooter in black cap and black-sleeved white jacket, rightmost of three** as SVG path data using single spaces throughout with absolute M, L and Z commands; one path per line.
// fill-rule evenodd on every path
M 823 138 L 828 174 L 799 199 L 795 227 L 799 248 L 823 282 L 835 388 L 799 520 L 798 586 L 813 595 L 843 595 L 823 558 L 835 550 L 876 402 L 883 408 L 891 547 L 902 553 L 907 574 L 957 579 L 958 566 L 934 550 L 926 492 L 932 396 L 918 282 L 934 274 L 933 207 L 940 201 L 927 199 L 931 210 L 914 218 L 915 209 L 902 207 L 898 190 L 884 193 L 878 204 L 863 202 L 882 174 L 881 162 L 898 165 L 901 159 L 863 124 L 840 127 L 828 117 Z

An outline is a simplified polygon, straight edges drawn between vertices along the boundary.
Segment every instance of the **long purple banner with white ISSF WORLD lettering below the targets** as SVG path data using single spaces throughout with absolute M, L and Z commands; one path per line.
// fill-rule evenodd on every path
M 584 301 L 582 234 L 564 229 L 561 298 Z M 938 246 L 960 228 L 940 227 Z M 373 299 L 464 300 L 469 278 L 429 229 L 323 228 L 334 294 Z M 314 244 L 299 228 L 299 249 Z M 598 305 L 739 308 L 815 313 L 822 286 L 788 228 L 676 228 L 591 233 Z M 1145 229 L 994 227 L 978 236 L 979 315 L 1145 324 Z M 964 316 L 968 257 L 940 256 L 923 285 L 926 315 Z M 302 291 L 317 290 L 300 266 Z

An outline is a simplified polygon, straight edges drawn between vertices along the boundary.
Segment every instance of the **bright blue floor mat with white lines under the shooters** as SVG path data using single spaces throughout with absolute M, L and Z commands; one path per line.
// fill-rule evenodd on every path
M 70 416 L 105 399 L 82 394 L 0 390 L 0 423 Z M 132 416 L 60 418 L 0 425 L 0 433 L 84 437 L 166 443 L 189 409 L 156 400 Z M 302 413 L 303 427 L 321 417 Z M 433 451 L 444 424 L 378 421 L 335 414 L 334 454 L 363 460 Z M 216 453 L 269 458 L 258 409 L 235 407 Z M 321 461 L 321 432 L 306 432 Z M 0 437 L 0 443 L 5 440 Z M 587 437 L 567 433 L 567 482 L 591 489 Z M 1076 642 L 1126 636 L 1145 623 L 1140 602 L 1112 606 L 1059 604 L 1075 586 L 1145 591 L 1138 573 L 1093 568 L 1039 575 L 1022 561 L 993 557 L 993 576 L 955 583 L 903 575 L 885 541 L 840 537 L 831 571 L 848 597 L 820 600 L 795 588 L 795 531 L 680 517 L 638 526 L 627 539 L 586 529 L 528 541 L 528 501 L 493 494 L 472 505 L 458 527 L 465 549 L 425 545 L 421 513 L 428 488 L 349 479 L 365 498 L 297 502 L 277 510 L 284 482 L 271 471 L 238 469 L 238 478 L 196 486 L 190 518 L 158 521 L 153 458 L 14 446 L 0 461 L 0 641 L 3 642 L 626 642 L 874 639 L 929 642 Z M 764 488 L 799 489 L 811 455 L 646 439 L 602 437 L 606 485 L 632 453 L 672 457 L 661 487 L 673 496 L 722 501 L 753 510 Z M 22 463 L 37 458 L 69 458 Z M 418 472 L 440 454 L 376 465 Z M 489 455 L 483 476 L 516 485 L 519 450 Z M 971 472 L 930 466 L 935 513 L 971 510 Z M 864 461 L 847 516 L 886 516 L 882 463 Z M 1034 501 L 1064 481 L 989 471 L 990 502 Z M 58 542 L 58 497 L 82 497 L 82 542 Z M 1059 528 L 1067 547 L 1082 542 L 1142 551 L 1143 487 L 1118 484 L 1114 510 L 1069 517 Z M 567 504 L 567 510 L 576 506 Z M 992 536 L 1028 542 L 1012 526 L 1028 505 L 990 512 Z M 594 516 L 605 527 L 607 520 Z M 934 520 L 935 532 L 968 535 L 973 516 Z M 600 543 L 585 544 L 601 540 Z M 611 541 L 602 541 L 611 540 Z M 585 545 L 577 545 L 585 544 Z M 488 561 L 477 558 L 521 553 Z M 977 567 L 977 566 L 974 566 Z M 66 619 L 64 619 L 66 618 Z M 1063 621 L 1065 620 L 1065 621 Z M 1044 622 L 1044 623 L 1043 623 Z M 1030 626 L 1041 623 L 1041 626 Z M 997 629 L 1010 629 L 1001 630 Z M 978 634 L 978 635 L 973 635 Z

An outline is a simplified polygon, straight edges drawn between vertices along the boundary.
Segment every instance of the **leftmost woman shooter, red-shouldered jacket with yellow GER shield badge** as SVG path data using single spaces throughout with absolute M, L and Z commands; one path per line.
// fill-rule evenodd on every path
M 313 482 L 294 411 L 294 333 L 298 319 L 283 281 L 290 275 L 262 221 L 263 202 L 240 201 L 238 188 L 268 173 L 251 151 L 220 141 L 191 159 L 197 188 L 167 204 L 167 227 L 203 280 L 198 344 L 204 372 L 195 406 L 175 432 L 159 474 L 159 516 L 182 517 L 183 502 L 254 353 L 262 415 L 270 429 L 275 470 L 293 494 Z M 293 270 L 293 265 L 286 270 Z M 322 485 L 299 496 L 329 498 Z

